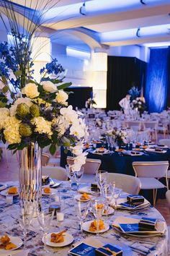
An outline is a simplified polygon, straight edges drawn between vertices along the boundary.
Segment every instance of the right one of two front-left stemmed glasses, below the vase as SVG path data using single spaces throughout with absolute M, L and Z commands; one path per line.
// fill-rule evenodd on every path
M 42 202 L 40 211 L 36 208 L 37 211 L 37 221 L 40 224 L 40 228 L 43 231 L 43 239 L 44 239 L 44 249 L 45 252 L 48 252 L 47 249 L 47 235 L 48 235 L 48 229 L 50 227 L 51 222 L 53 221 L 54 217 L 54 210 L 49 211 L 49 205 L 48 202 Z

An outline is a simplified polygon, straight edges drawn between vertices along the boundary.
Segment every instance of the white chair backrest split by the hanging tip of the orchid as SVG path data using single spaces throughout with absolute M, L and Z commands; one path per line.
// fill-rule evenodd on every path
M 73 157 L 68 156 L 67 163 L 69 165 L 73 165 Z M 84 174 L 96 174 L 96 172 L 99 170 L 100 164 L 101 160 L 99 159 L 86 158 L 86 163 L 83 165 Z

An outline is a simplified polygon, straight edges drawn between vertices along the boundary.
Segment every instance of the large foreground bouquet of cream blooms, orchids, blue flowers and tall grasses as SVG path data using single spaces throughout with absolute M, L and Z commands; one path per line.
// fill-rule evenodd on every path
M 30 142 L 37 142 L 40 148 L 49 145 L 51 154 L 63 145 L 76 155 L 72 169 L 79 171 L 86 160 L 82 140 L 87 132 L 81 113 L 67 103 L 68 93 L 64 89 L 71 82 L 63 84 L 63 78 L 59 79 L 64 69 L 56 59 L 40 70 L 40 82 L 33 77 L 32 35 L 45 22 L 43 14 L 50 9 L 51 1 L 47 1 L 41 12 L 38 1 L 36 5 L 32 0 L 30 3 L 35 7 L 36 15 L 29 24 L 27 17 L 23 16 L 22 28 L 17 23 L 17 12 L 11 0 L 4 1 L 0 11 L 4 25 L 3 14 L 9 20 L 13 38 L 13 46 L 0 43 L 0 140 L 7 142 L 8 149 L 14 153 L 27 148 Z M 27 13 L 27 7 L 24 8 L 24 13 Z M 8 27 L 6 30 L 9 32 Z M 55 78 L 50 79 L 50 75 Z

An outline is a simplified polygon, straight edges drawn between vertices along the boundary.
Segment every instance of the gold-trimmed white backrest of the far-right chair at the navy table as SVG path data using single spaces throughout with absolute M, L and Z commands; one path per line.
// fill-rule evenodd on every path
M 169 161 L 133 162 L 135 176 L 147 178 L 162 178 L 167 176 Z

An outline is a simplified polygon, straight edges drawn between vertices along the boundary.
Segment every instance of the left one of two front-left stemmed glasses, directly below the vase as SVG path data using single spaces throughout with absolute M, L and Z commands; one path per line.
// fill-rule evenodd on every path
M 26 246 L 27 242 L 27 228 L 30 226 L 33 215 L 34 207 L 32 202 L 20 201 L 19 224 L 24 233 L 24 247 Z

